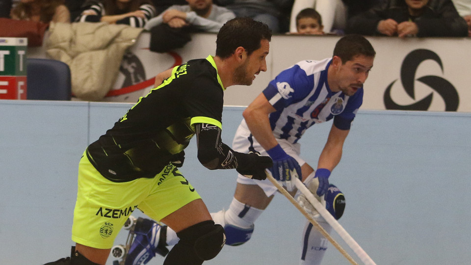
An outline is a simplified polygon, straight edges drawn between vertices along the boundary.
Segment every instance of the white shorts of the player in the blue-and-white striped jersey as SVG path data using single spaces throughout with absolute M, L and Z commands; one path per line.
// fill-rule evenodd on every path
M 299 154 L 301 153 L 301 145 L 299 143 L 292 144 L 285 139 L 277 139 L 277 141 L 281 148 L 283 148 L 283 150 L 285 150 L 289 156 L 296 159 L 299 166 L 302 166 L 304 163 L 306 163 L 304 159 L 299 157 Z M 262 156 L 268 156 L 265 149 L 263 149 L 255 137 L 251 136 L 245 120 L 242 120 L 239 127 L 237 128 L 237 131 L 235 132 L 234 141 L 232 142 L 232 149 L 240 153 L 248 153 L 250 151 L 250 147 L 253 147 Z M 246 185 L 259 185 L 267 197 L 270 197 L 278 190 L 269 180 L 253 180 L 240 174 L 237 176 L 237 183 Z

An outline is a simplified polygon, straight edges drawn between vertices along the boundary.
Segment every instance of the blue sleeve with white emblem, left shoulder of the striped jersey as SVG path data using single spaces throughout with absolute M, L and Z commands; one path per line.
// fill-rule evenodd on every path
M 263 90 L 263 95 L 276 110 L 279 110 L 306 97 L 313 87 L 313 76 L 308 76 L 298 64 L 295 64 L 271 80 Z

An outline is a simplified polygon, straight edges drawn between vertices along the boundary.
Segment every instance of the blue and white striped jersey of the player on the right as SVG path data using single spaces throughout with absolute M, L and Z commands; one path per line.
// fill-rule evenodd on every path
M 363 103 L 363 87 L 353 96 L 332 92 L 327 69 L 332 59 L 300 61 L 271 80 L 263 94 L 276 109 L 270 125 L 276 138 L 296 143 L 316 123 L 334 118 L 340 130 L 349 130 Z

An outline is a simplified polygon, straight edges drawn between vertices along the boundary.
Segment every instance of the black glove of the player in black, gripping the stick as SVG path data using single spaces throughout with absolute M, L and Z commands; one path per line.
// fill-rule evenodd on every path
M 266 179 L 265 169 L 273 166 L 273 160 L 270 157 L 261 156 L 259 153 L 251 152 L 249 154 L 237 154 L 239 174 L 255 180 Z

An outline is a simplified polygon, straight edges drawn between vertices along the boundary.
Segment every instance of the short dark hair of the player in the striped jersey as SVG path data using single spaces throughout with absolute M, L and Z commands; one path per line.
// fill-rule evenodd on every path
M 371 43 L 362 35 L 345 35 L 335 45 L 334 56 L 339 56 L 342 64 L 352 60 L 357 55 L 365 55 L 367 57 L 374 57 L 376 55 Z

